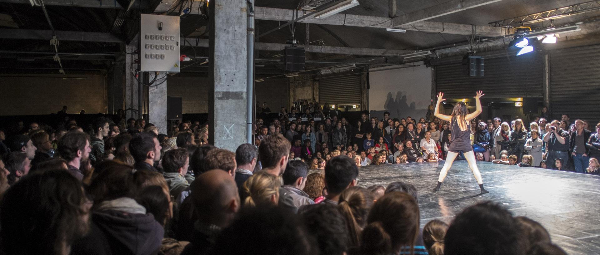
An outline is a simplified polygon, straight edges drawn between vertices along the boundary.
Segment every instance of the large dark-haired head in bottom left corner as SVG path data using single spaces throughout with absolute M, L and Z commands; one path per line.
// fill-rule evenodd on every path
M 89 232 L 87 202 L 79 181 L 63 170 L 23 178 L 0 202 L 3 254 L 68 254 Z

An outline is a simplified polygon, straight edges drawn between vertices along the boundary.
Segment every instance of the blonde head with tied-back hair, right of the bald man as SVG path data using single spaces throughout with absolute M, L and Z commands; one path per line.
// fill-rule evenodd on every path
M 259 172 L 252 175 L 242 185 L 245 207 L 275 204 L 279 200 L 279 187 L 281 182 L 272 174 Z

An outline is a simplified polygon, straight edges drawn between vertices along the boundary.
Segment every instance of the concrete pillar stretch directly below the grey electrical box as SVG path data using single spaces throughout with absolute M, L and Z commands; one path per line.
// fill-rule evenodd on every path
M 166 72 L 158 74 L 160 85 L 148 88 L 148 123 L 154 124 L 158 133 L 167 133 L 167 81 L 162 83 L 161 79 L 164 75 Z M 151 77 L 154 78 L 154 74 Z

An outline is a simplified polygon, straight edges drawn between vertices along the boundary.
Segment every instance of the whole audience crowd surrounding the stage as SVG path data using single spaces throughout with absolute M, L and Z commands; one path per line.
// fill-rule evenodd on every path
M 358 186 L 362 166 L 444 160 L 452 130 L 433 114 L 351 124 L 307 106 L 260 115 L 254 144 L 235 152 L 209 144 L 200 122 L 0 130 L 0 253 L 565 254 L 493 202 L 421 228 L 415 186 Z M 477 159 L 598 175 L 600 123 L 548 118 L 473 120 Z

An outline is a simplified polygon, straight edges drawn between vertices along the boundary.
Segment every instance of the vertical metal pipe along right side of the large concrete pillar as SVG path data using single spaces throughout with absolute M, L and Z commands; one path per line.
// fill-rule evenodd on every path
M 246 69 L 246 142 L 252 142 L 252 125 L 253 114 L 252 107 L 254 106 L 254 0 L 248 0 L 248 28 L 247 28 L 247 69 Z

